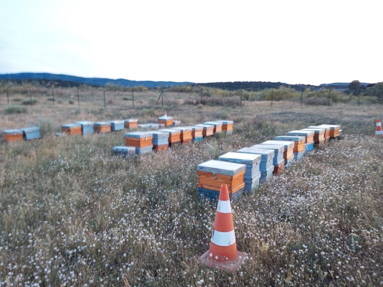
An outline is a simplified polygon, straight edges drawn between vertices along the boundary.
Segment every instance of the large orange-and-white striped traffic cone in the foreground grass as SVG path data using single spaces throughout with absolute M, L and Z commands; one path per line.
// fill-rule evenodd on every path
M 210 248 L 198 258 L 198 263 L 233 273 L 241 266 L 245 257 L 245 253 L 237 251 L 229 192 L 227 185 L 221 184 Z

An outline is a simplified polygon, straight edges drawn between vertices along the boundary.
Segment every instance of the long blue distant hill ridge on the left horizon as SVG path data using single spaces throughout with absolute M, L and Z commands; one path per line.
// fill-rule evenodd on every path
M 57 83 L 64 84 L 65 86 L 74 83 L 73 86 L 78 84 L 86 84 L 90 86 L 105 86 L 108 83 L 124 86 L 124 87 L 170 87 L 179 85 L 191 85 L 191 82 L 155 82 L 155 81 L 131 81 L 126 79 L 108 79 L 108 78 L 84 78 L 69 75 L 50 74 L 50 73 L 17 73 L 17 74 L 0 74 L 0 80 L 37 80 L 41 82 L 57 81 Z M 42 81 L 42 82 L 44 82 Z M 75 84 L 77 83 L 77 84 Z

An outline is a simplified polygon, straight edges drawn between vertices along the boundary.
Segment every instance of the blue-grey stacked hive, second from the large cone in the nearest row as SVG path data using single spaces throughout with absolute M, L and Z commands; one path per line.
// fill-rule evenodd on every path
M 255 153 L 227 152 L 218 157 L 219 160 L 235 162 L 246 165 L 246 171 L 243 176 L 245 182 L 245 191 L 252 192 L 259 185 L 261 178 L 260 162 L 261 155 Z

